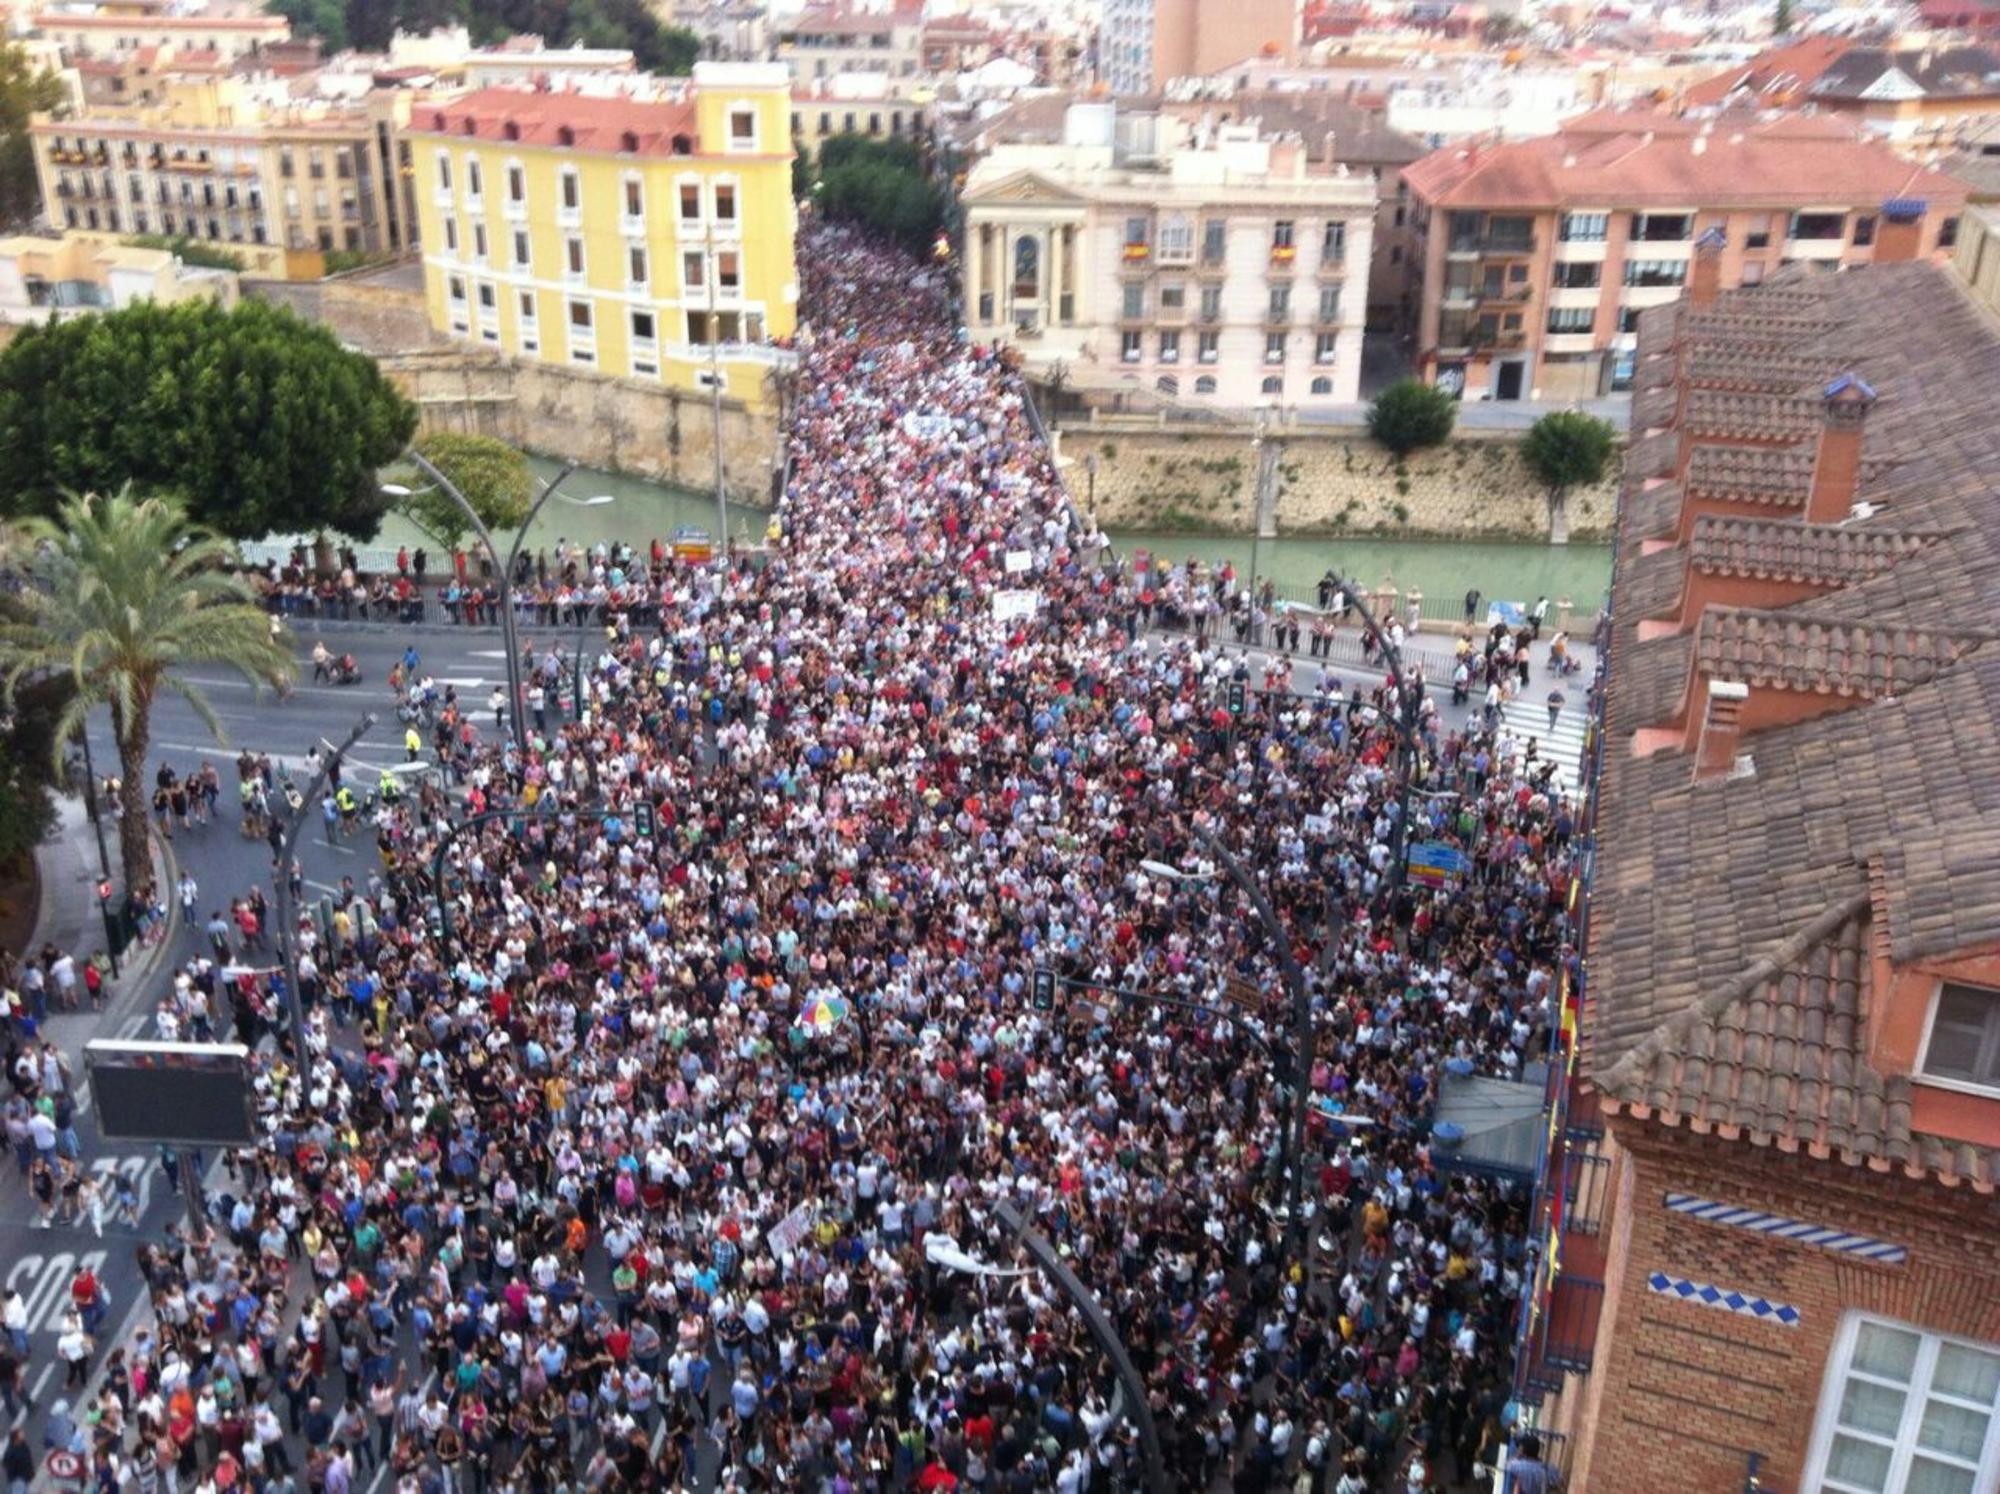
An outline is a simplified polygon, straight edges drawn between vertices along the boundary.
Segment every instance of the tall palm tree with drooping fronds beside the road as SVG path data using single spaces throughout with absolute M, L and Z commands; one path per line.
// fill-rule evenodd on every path
M 188 664 L 222 664 L 252 686 L 284 686 L 292 650 L 240 576 L 222 570 L 226 540 L 188 522 L 174 498 L 66 498 L 56 516 L 22 520 L 8 546 L 28 586 L 0 622 L 8 692 L 28 674 L 66 672 L 76 696 L 56 722 L 56 752 L 90 710 L 112 708 L 118 738 L 118 854 L 126 886 L 148 880 L 146 746 L 152 704 L 180 696 L 224 742 L 206 696 L 180 678 Z

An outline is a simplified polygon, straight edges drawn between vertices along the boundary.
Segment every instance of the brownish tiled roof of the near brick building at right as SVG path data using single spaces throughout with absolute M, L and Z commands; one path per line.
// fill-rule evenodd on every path
M 1690 388 L 1692 484 L 1802 480 L 1820 420 L 1796 372 L 1854 370 L 1880 392 L 1864 434 L 1864 518 L 1710 518 L 1688 554 L 1646 554 L 1680 512 L 1680 430 L 1628 448 L 1620 488 L 1584 1068 L 1622 1104 L 1752 1140 L 1992 1188 L 1990 1148 L 1910 1128 L 1910 1084 L 1866 1062 L 1864 948 L 1896 962 L 2000 942 L 2000 334 L 1948 272 L 1890 264 L 1724 292 L 1678 326 L 1676 370 L 1768 348 L 1756 388 Z M 1776 302 L 1766 302 L 1776 304 Z M 1730 318 L 1742 322 L 1730 330 Z M 1774 388 L 1778 386 L 1778 388 Z M 1648 388 L 1672 388 L 1650 384 Z M 1786 392 L 1790 388 L 1790 392 Z M 1666 562 L 1826 584 L 1780 610 L 1710 608 L 1640 642 Z M 1634 752 L 1708 672 L 1844 696 L 1846 708 L 1740 740 L 1742 776 L 1696 780 L 1686 752 Z M 1672 896 L 1662 896 L 1670 888 Z

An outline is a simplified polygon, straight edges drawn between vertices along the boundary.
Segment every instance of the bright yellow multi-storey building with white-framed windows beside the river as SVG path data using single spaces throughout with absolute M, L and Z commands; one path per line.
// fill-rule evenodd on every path
M 716 370 L 762 408 L 798 310 L 788 86 L 780 66 L 702 62 L 676 98 L 488 88 L 418 108 L 432 326 L 688 390 Z

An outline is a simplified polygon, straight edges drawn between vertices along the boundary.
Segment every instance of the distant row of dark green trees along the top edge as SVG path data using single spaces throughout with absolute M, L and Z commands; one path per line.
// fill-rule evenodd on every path
M 550 46 L 622 46 L 646 72 L 684 76 L 700 38 L 662 22 L 646 0 L 268 0 L 298 36 L 318 36 L 328 52 L 378 52 L 402 32 L 466 26 L 482 44 L 534 34 Z

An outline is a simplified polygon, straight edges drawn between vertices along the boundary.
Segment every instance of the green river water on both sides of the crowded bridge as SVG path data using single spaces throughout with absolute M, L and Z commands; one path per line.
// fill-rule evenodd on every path
M 558 470 L 556 462 L 534 458 L 544 478 Z M 654 536 L 668 538 L 676 528 L 714 530 L 716 500 L 710 492 L 676 488 L 646 478 L 578 468 L 564 484 L 564 494 L 576 498 L 610 496 L 614 502 L 592 508 L 564 504 L 558 496 L 536 520 L 536 548 L 554 546 L 558 538 L 580 544 L 626 540 L 642 544 Z M 730 506 L 730 536 L 738 542 L 758 542 L 764 536 L 766 514 L 760 508 Z M 512 542 L 500 534 L 500 544 Z M 1250 570 L 1248 536 L 1212 534 L 1146 534 L 1118 530 L 1112 534 L 1122 556 L 1150 550 L 1180 562 L 1188 558 L 1206 564 L 1234 562 L 1238 574 Z M 376 546 L 394 550 L 398 544 L 422 544 L 410 524 L 390 514 Z M 1364 586 L 1380 586 L 1392 578 L 1398 590 L 1418 588 L 1426 610 L 1456 614 L 1458 600 L 1478 586 L 1490 600 L 1532 602 L 1536 596 L 1576 604 L 1578 612 L 1596 612 L 1610 580 L 1612 552 L 1604 544 L 1480 544 L 1452 540 L 1364 540 L 1364 538 L 1280 538 L 1256 542 L 1256 568 L 1272 576 L 1280 592 L 1308 598 L 1320 576 L 1334 568 Z

